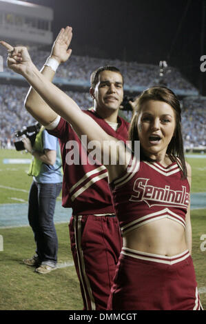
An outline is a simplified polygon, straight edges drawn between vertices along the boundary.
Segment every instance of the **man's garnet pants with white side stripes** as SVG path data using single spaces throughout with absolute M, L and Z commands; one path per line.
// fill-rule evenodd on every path
M 114 214 L 77 215 L 69 228 L 83 310 L 106 310 L 123 244 L 119 222 Z

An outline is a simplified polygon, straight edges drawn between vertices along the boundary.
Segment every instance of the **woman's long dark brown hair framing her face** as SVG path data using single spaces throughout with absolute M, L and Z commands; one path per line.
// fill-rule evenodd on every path
M 175 110 L 176 116 L 176 130 L 175 134 L 172 137 L 168 147 L 167 154 L 171 161 L 177 161 L 176 158 L 181 161 L 181 168 L 183 170 L 183 179 L 187 178 L 187 167 L 185 163 L 185 154 L 183 148 L 183 136 L 182 136 L 182 128 L 181 128 L 181 105 L 172 90 L 163 87 L 163 86 L 154 86 L 145 90 L 139 97 L 136 99 L 136 114 L 130 123 L 129 130 L 129 139 L 132 141 L 132 150 L 134 150 L 134 141 L 138 141 L 138 116 L 141 112 L 141 107 L 143 103 L 149 100 L 163 101 L 170 105 Z M 140 145 L 141 147 L 141 145 Z M 141 148 L 141 160 L 145 161 L 154 161 L 146 156 Z

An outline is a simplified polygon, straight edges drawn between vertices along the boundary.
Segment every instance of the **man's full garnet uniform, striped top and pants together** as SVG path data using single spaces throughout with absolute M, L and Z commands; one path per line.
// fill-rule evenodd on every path
M 129 123 L 124 119 L 118 118 L 120 125 L 115 131 L 96 112 L 83 112 L 89 114 L 107 134 L 127 141 Z M 114 214 L 107 182 L 107 170 L 103 165 L 94 163 L 94 160 L 93 164 L 87 161 L 89 154 L 70 123 L 60 119 L 57 127 L 48 132 L 59 137 L 61 147 L 62 204 L 63 207 L 72 207 L 70 242 L 83 309 L 106 310 L 122 247 L 119 222 Z

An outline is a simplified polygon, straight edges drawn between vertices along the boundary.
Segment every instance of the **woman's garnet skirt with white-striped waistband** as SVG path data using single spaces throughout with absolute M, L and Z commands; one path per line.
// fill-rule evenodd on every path
M 123 247 L 107 310 L 203 310 L 189 251 L 169 257 Z

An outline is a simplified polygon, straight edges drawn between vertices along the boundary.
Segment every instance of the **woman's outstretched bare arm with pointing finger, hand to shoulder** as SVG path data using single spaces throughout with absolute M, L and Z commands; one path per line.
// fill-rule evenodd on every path
M 79 106 L 70 98 L 67 94 L 61 91 L 53 83 L 48 81 L 41 72 L 36 68 L 34 63 L 30 58 L 27 48 L 16 47 L 12 48 L 11 45 L 0 42 L 4 45 L 9 52 L 8 56 L 8 67 L 11 68 L 14 72 L 21 74 L 25 79 L 30 83 L 32 88 L 42 97 L 42 99 L 47 103 L 47 105 L 59 114 L 63 119 L 72 124 L 74 131 L 81 138 L 82 135 L 87 135 L 87 143 L 95 141 L 94 146 L 96 152 L 101 154 L 101 163 L 105 164 L 107 169 L 112 170 L 110 172 L 110 180 L 119 176 L 123 170 L 125 170 L 125 165 L 127 166 L 127 161 L 130 159 L 130 156 L 125 159 L 125 150 L 120 149 L 116 146 L 117 139 L 114 139 L 112 136 L 108 135 L 90 116 L 84 114 Z M 54 118 L 54 114 L 52 114 Z M 50 113 L 48 112 L 48 119 L 50 119 Z M 49 123 L 49 122 L 48 122 Z M 109 145 L 109 150 L 105 152 L 105 143 Z M 109 143 L 109 144 L 108 144 Z M 121 145 L 121 148 L 123 145 Z M 112 165 L 110 159 L 107 163 L 104 163 L 103 158 L 105 154 L 111 156 L 111 152 L 116 150 L 116 163 L 119 162 L 119 152 L 121 152 L 121 161 L 123 159 L 126 161 L 123 165 Z M 92 148 L 91 148 L 92 151 Z M 127 154 L 128 155 L 128 154 Z M 109 171 L 110 171 L 109 170 Z

